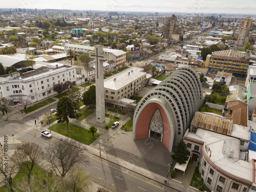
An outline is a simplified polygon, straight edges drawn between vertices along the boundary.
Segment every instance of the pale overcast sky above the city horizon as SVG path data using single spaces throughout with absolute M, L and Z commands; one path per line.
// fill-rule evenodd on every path
M 1 8 L 256 14 L 256 0 L 11 0 Z

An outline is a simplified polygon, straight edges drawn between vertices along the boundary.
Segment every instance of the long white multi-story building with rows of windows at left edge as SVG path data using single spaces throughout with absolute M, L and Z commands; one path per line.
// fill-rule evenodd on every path
M 9 76 L 0 77 L 0 96 L 9 98 L 12 105 L 23 98 L 35 102 L 56 94 L 53 91 L 54 84 L 76 81 L 74 66 L 48 66 L 51 68 L 34 75 L 20 76 L 19 72 L 13 72 Z

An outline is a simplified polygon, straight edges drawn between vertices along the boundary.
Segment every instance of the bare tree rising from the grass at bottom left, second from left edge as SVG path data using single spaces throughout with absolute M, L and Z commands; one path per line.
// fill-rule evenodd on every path
M 19 172 L 24 172 L 28 176 L 28 186 L 30 188 L 31 173 L 35 165 L 42 162 L 42 148 L 31 142 L 25 142 L 17 146 L 10 160 L 19 167 Z

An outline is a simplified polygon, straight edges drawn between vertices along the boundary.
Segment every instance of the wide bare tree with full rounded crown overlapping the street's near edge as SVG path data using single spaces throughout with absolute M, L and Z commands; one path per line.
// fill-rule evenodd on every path
M 49 146 L 46 158 L 56 175 L 60 174 L 61 177 L 65 177 L 69 170 L 78 163 L 84 165 L 89 163 L 84 150 L 82 143 L 68 139 L 57 140 Z

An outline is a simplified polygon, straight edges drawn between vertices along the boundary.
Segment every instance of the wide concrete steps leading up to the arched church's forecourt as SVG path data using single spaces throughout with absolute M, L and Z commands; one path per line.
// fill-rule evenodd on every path
M 157 164 L 153 161 L 120 150 L 119 148 L 111 148 L 110 150 L 107 150 L 106 153 L 111 154 L 127 162 L 133 163 L 147 170 L 150 170 L 151 172 L 161 175 L 163 177 L 166 177 L 167 175 L 168 166 Z

